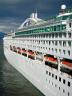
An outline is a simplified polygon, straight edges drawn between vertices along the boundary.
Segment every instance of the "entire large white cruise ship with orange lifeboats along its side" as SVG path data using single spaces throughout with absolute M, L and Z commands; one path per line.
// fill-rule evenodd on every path
M 8 62 L 45 96 L 72 96 L 72 9 L 48 20 L 32 13 L 3 38 Z

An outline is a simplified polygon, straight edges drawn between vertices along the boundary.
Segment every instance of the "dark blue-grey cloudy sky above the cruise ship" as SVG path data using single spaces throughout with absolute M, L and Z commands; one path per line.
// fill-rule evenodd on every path
M 55 16 L 62 4 L 71 8 L 72 0 L 0 0 L 0 32 L 15 30 L 36 9 L 41 19 Z

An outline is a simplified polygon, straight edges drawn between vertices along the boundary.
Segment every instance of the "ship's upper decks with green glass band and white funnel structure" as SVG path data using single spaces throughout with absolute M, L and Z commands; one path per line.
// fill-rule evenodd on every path
M 48 20 L 38 18 L 37 12 L 32 13 L 13 36 L 43 34 L 51 32 L 67 32 L 72 29 L 72 9 L 62 8 L 59 15 Z

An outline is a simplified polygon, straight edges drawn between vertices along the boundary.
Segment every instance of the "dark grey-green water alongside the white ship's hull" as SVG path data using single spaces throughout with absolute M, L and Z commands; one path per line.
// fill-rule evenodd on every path
M 0 40 L 0 96 L 44 96 L 5 59 Z

